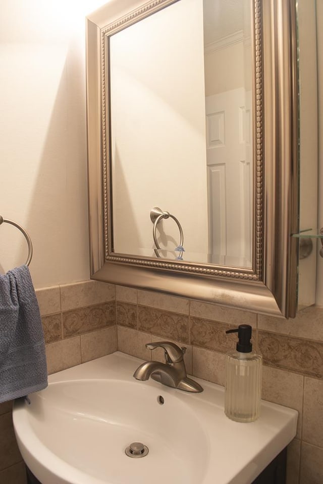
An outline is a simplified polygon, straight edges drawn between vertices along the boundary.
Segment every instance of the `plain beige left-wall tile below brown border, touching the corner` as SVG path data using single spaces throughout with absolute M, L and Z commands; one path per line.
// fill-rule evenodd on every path
M 81 335 L 82 362 L 117 351 L 117 326 Z

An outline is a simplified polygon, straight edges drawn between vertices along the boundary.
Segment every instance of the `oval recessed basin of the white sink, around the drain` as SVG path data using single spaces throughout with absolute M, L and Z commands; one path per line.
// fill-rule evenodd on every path
M 25 425 L 56 459 L 84 472 L 72 482 L 142 484 L 142 472 L 151 477 L 158 469 L 153 481 L 164 484 L 170 468 L 176 482 L 200 482 L 208 458 L 207 436 L 185 403 L 168 394 L 160 404 L 159 393 L 163 391 L 135 381 L 56 382 L 30 396 Z M 149 449 L 141 462 L 125 454 L 138 441 Z M 59 466 L 52 463 L 52 482 L 58 482 Z M 51 482 L 47 476 L 42 481 Z

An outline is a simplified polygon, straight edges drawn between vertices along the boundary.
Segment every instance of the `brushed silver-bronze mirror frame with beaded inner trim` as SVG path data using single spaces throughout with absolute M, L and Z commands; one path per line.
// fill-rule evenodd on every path
M 91 278 L 285 318 L 297 308 L 298 92 L 295 0 L 250 0 L 253 11 L 252 269 L 113 252 L 109 37 L 178 0 L 112 0 L 87 17 Z

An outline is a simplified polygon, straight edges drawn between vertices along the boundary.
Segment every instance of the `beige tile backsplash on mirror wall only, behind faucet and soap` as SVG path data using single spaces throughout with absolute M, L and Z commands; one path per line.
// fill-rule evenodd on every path
M 225 383 L 225 353 L 238 324 L 253 327 L 253 345 L 263 355 L 262 398 L 299 412 L 297 435 L 288 448 L 287 484 L 323 483 L 323 308 L 311 307 L 295 319 L 257 315 L 156 292 L 117 286 L 118 350 L 143 359 L 163 352 L 145 349 L 168 339 L 187 345 L 188 371 Z M 159 351 L 159 353 L 157 353 Z

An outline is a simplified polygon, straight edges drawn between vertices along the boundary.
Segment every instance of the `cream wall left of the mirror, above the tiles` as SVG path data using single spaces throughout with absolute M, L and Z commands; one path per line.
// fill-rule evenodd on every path
M 0 215 L 30 234 L 36 288 L 89 277 L 84 26 L 102 3 L 0 3 Z M 0 272 L 26 254 L 3 224 Z

